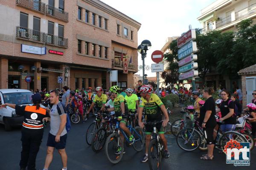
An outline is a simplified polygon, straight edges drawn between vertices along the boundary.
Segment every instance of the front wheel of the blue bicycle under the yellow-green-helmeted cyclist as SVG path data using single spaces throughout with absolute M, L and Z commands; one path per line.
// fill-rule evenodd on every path
M 117 151 L 121 151 L 121 153 L 116 154 Z M 112 133 L 109 135 L 105 143 L 105 154 L 108 160 L 112 164 L 117 164 L 122 159 L 123 151 L 124 146 L 119 135 L 117 133 Z

